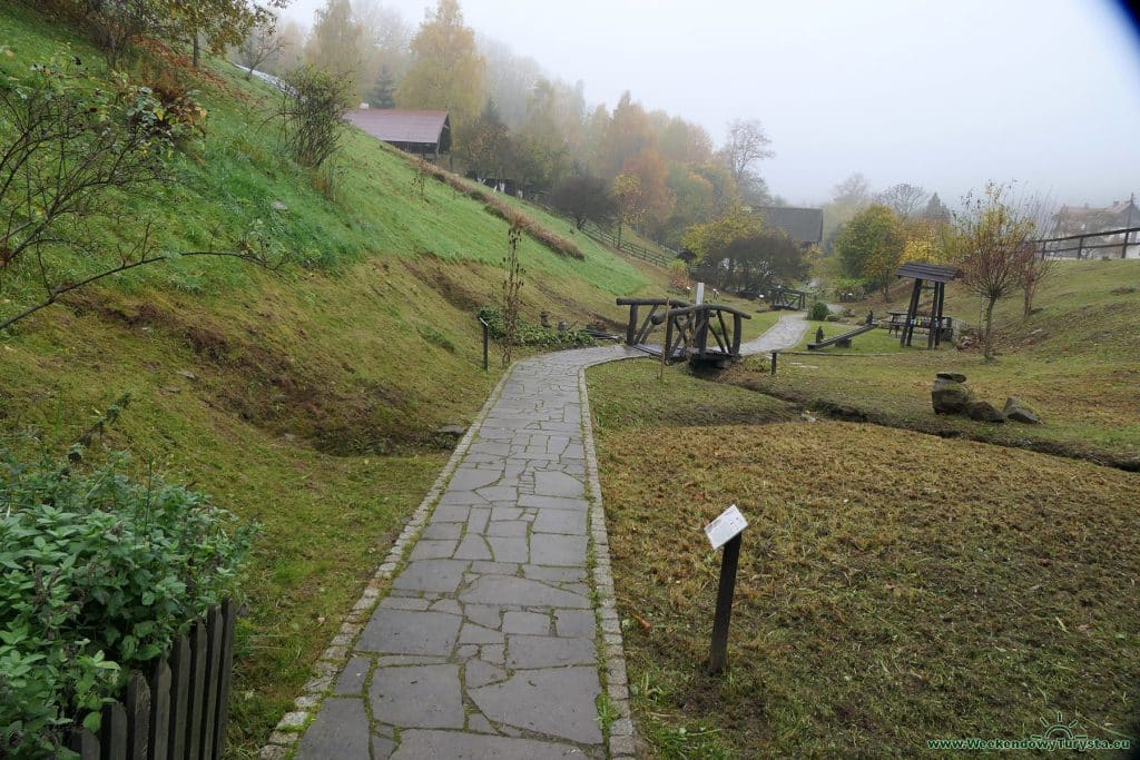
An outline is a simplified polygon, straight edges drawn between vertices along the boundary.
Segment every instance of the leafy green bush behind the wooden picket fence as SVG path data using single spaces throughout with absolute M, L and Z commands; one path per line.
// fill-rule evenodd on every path
M 209 498 L 0 448 L 0 755 L 55 757 L 73 720 L 236 591 L 254 532 Z

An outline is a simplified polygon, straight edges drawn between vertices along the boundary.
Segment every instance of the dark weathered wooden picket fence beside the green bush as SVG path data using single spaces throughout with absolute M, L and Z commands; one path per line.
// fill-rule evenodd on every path
M 238 610 L 213 607 L 147 673 L 132 671 L 122 702 L 104 708 L 98 736 L 72 734 L 82 760 L 212 760 L 226 747 Z

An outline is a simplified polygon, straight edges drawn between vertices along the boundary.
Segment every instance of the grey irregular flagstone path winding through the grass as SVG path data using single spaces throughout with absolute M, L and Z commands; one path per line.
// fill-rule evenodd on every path
M 787 348 L 805 329 L 800 316 L 787 314 L 746 349 Z M 581 377 L 585 367 L 630 356 L 643 354 L 585 349 L 515 365 L 441 475 L 450 476 L 447 488 L 437 484 L 425 499 L 326 652 L 324 670 L 318 663 L 309 696 L 298 701 L 317 713 L 296 758 L 632 755 Z M 609 746 L 598 725 L 603 673 L 616 717 Z M 304 710 L 290 713 L 279 728 L 307 719 Z M 293 739 L 275 733 L 262 755 L 287 755 Z

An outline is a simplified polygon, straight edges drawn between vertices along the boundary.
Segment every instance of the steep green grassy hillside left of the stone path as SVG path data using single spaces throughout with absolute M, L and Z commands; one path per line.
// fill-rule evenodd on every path
M 38 10 L 5 3 L 0 30 L 9 74 L 65 49 L 106 74 L 97 51 Z M 196 90 L 205 137 L 176 156 L 173 181 L 95 242 L 129 242 L 147 220 L 172 252 L 229 247 L 256 231 L 294 263 L 275 273 L 171 261 L 18 324 L 0 335 L 0 431 L 25 455 L 60 455 L 129 393 L 89 459 L 130 451 L 139 474 L 193 483 L 264 525 L 231 711 L 235 757 L 247 757 L 445 461 L 449 442 L 433 431 L 470 420 L 497 381 L 497 362 L 489 374 L 480 367 L 474 311 L 498 297 L 507 223 L 442 182 L 429 179 L 421 195 L 414 167 L 360 132 L 331 181 L 308 172 L 268 119 L 276 91 L 221 62 L 201 73 L 185 63 L 152 48 L 129 66 L 139 82 Z M 616 295 L 660 291 L 653 270 L 526 213 L 585 259 L 523 238 L 524 318 L 620 319 Z M 99 263 L 54 267 L 74 279 Z M 34 301 L 32 281 L 5 272 L 5 313 Z

